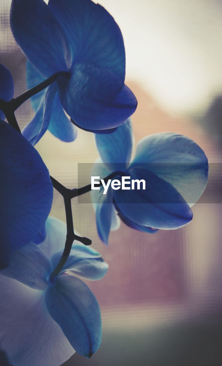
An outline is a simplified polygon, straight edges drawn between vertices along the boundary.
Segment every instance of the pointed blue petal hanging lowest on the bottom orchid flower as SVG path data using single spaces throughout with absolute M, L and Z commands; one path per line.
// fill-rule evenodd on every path
M 77 277 L 60 275 L 56 284 L 47 288 L 45 303 L 71 346 L 82 356 L 91 357 L 101 342 L 101 315 L 88 286 Z

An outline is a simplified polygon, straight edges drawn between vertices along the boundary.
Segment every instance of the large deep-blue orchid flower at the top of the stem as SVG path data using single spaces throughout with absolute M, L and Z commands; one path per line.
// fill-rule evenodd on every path
M 47 129 L 73 141 L 77 126 L 100 131 L 120 126 L 137 100 L 125 81 L 125 48 L 112 16 L 91 0 L 12 0 L 11 29 L 30 62 L 32 87 L 67 71 L 32 98 L 36 111 L 23 135 L 35 144 Z M 64 109 L 64 110 L 63 110 Z

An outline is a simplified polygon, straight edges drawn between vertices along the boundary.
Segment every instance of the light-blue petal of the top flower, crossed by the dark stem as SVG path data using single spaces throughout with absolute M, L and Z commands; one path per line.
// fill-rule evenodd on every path
M 26 82 L 27 82 L 27 88 L 32 89 L 34 86 L 42 83 L 42 81 L 45 80 L 45 77 L 40 74 L 40 72 L 37 71 L 37 69 L 33 66 L 33 64 L 27 60 L 26 63 Z M 33 95 L 30 98 L 32 108 L 36 112 L 38 109 L 38 106 L 40 105 L 42 96 L 44 95 L 45 90 L 41 90 L 39 93 Z

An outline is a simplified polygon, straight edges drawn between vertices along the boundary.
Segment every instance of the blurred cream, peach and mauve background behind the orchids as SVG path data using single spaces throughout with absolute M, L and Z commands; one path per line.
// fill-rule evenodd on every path
M 26 60 L 11 34 L 10 4 L 0 1 L 0 62 L 17 96 L 26 90 Z M 155 132 L 179 132 L 204 149 L 211 165 L 193 221 L 175 231 L 145 234 L 122 223 L 105 247 L 92 206 L 73 200 L 75 229 L 92 239 L 110 268 L 104 279 L 87 281 L 101 307 L 101 347 L 90 360 L 75 354 L 64 366 L 221 366 L 222 1 L 100 4 L 123 33 L 126 84 L 138 100 L 136 143 Z M 16 117 L 21 127 L 32 119 L 29 101 Z M 78 163 L 98 157 L 93 134 L 79 129 L 73 143 L 47 131 L 36 148 L 50 174 L 70 188 L 78 186 Z M 56 192 L 51 214 L 65 219 Z

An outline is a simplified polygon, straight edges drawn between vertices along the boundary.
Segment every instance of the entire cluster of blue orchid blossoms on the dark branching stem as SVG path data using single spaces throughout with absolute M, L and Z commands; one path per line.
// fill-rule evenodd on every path
M 71 199 L 90 186 L 64 187 L 34 145 L 47 130 L 71 142 L 82 128 L 95 134 L 100 154 L 93 175 L 146 179 L 145 191 L 92 191 L 105 244 L 120 221 L 147 233 L 188 224 L 208 162 L 176 133 L 144 137 L 131 161 L 137 100 L 124 83 L 121 31 L 101 5 L 12 0 L 10 21 L 27 57 L 28 90 L 14 98 L 11 73 L 0 64 L 0 356 L 13 366 L 59 366 L 75 351 L 90 357 L 100 346 L 99 305 L 79 277 L 99 280 L 108 264 L 73 228 Z M 20 131 L 14 112 L 29 98 L 35 115 Z M 66 225 L 48 217 L 53 187 L 64 198 Z

